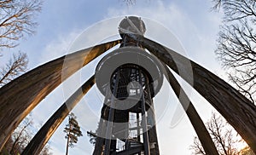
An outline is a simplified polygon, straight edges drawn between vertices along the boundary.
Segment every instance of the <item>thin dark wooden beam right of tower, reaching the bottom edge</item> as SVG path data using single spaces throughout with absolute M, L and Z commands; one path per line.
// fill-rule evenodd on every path
M 216 149 L 216 146 L 214 145 L 212 138 L 207 131 L 207 128 L 203 121 L 201 120 L 199 114 L 195 110 L 195 106 L 193 106 L 192 102 L 189 100 L 188 95 L 184 92 L 183 88 L 180 86 L 180 84 L 177 82 L 177 79 L 173 76 L 172 72 L 169 70 L 168 67 L 166 67 L 165 64 L 163 64 L 166 68 L 167 73 L 167 80 L 169 81 L 170 85 L 172 86 L 172 89 L 177 95 L 178 100 L 180 101 L 181 105 L 183 106 L 183 109 L 185 110 L 190 123 L 195 129 L 195 133 L 198 136 L 199 140 L 201 141 L 201 145 L 204 148 L 204 151 L 207 154 L 211 155 L 218 155 L 218 151 Z M 182 96 L 180 96 L 182 95 Z M 186 101 L 189 101 L 189 103 L 184 103 Z M 189 104 L 189 105 L 187 105 Z

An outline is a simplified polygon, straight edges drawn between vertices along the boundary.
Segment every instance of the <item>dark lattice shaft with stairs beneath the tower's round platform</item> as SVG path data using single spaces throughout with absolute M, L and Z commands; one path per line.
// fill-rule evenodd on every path
M 124 77 L 127 73 L 129 76 Z M 128 82 L 131 82 L 131 79 L 134 79 L 132 82 L 136 81 L 140 86 L 144 87 L 144 89 L 141 89 L 143 87 L 133 87 L 130 89 L 131 92 L 129 92 L 133 93 L 133 95 L 138 95 L 139 92 L 142 92 L 140 100 L 137 100 L 136 105 L 129 109 L 115 109 L 114 107 L 117 107 L 115 105 L 122 104 L 122 101 L 128 96 L 125 88 Z M 114 86 L 111 90 L 113 91 L 113 94 L 106 95 L 106 102 L 102 107 L 101 118 L 103 118 L 103 121 L 107 123 L 107 129 L 105 130 L 106 133 L 104 133 L 104 130 L 103 133 L 100 133 L 103 137 L 103 141 L 96 141 L 96 145 L 100 145 L 100 147 L 102 147 L 104 155 L 134 154 L 141 152 L 148 155 L 150 152 L 159 152 L 157 150 L 157 141 L 149 141 L 150 135 L 148 132 L 149 124 L 147 122 L 148 117 L 146 117 L 146 108 L 150 108 L 153 103 L 149 90 L 148 77 L 142 72 L 142 69 L 139 66 L 120 66 L 117 71 L 113 73 L 112 80 L 114 81 Z M 125 102 L 125 104 L 129 104 L 128 100 L 125 100 Z M 131 127 L 132 114 L 135 115 L 137 119 L 135 122 L 136 125 Z M 129 134 L 132 131 L 135 131 L 135 133 L 133 133 L 135 135 Z M 155 130 L 152 133 L 156 135 Z M 118 148 L 116 145 L 117 141 L 122 142 L 123 147 Z M 154 143 L 157 147 L 154 146 L 154 148 L 150 149 L 150 143 Z

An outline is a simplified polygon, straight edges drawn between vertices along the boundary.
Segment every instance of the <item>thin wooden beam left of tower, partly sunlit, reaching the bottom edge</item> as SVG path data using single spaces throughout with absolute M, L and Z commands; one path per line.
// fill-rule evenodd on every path
M 68 113 L 76 106 L 79 100 L 89 91 L 89 89 L 95 83 L 95 78 L 92 76 L 87 82 L 85 82 L 79 89 L 77 89 L 73 95 L 71 95 L 67 101 L 44 123 L 44 126 L 39 129 L 38 133 L 32 138 L 32 141 L 26 146 L 21 155 L 26 154 L 39 154 L 44 148 L 45 144 L 49 141 L 51 135 L 55 133 L 55 130 L 61 125 L 63 120 L 67 117 Z

